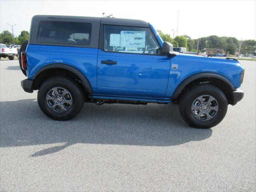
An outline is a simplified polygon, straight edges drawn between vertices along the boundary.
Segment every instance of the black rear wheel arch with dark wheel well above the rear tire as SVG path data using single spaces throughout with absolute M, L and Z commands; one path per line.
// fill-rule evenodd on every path
M 38 80 L 40 80 L 42 78 L 47 78 L 44 76 L 44 74 L 47 74 L 48 77 L 52 77 L 51 73 L 54 73 L 55 76 L 58 76 L 58 71 L 56 69 L 70 73 L 70 75 L 73 76 L 74 78 L 77 77 L 81 81 L 80 83 L 82 84 L 85 91 L 88 94 L 92 94 L 92 87 L 90 85 L 90 82 L 88 81 L 86 76 L 84 74 L 82 74 L 82 72 L 80 70 L 78 70 L 77 68 L 70 66 L 68 64 L 60 64 L 60 63 L 49 64 L 49 65 L 46 65 L 46 66 L 40 68 L 34 74 L 34 76 L 32 78 L 35 81 L 35 88 L 37 88 L 39 84 L 42 84 L 42 82 L 39 83 Z M 51 72 L 51 73 L 49 73 L 49 72 Z M 65 74 L 67 74 L 67 73 L 65 73 Z

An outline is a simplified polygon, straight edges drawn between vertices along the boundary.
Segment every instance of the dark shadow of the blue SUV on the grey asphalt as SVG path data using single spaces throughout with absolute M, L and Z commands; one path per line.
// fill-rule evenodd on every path
M 58 152 L 76 143 L 174 146 L 212 135 L 211 129 L 188 126 L 175 104 L 85 103 L 76 118 L 55 121 L 41 112 L 37 100 L 26 99 L 0 102 L 0 119 L 0 147 L 58 145 L 32 157 Z

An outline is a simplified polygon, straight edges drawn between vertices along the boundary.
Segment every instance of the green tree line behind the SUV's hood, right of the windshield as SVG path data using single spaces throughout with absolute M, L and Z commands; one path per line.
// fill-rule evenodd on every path
M 229 54 L 235 54 L 238 51 L 240 41 L 234 37 L 218 37 L 211 35 L 208 37 L 201 37 L 198 39 L 192 39 L 190 36 L 181 35 L 176 36 L 174 39 L 169 34 L 164 34 L 162 31 L 157 30 L 163 41 L 167 41 L 173 44 L 175 47 L 185 47 L 187 51 L 201 52 L 202 49 L 206 48 L 218 48 L 226 51 Z M 207 43 L 206 43 L 207 41 Z M 197 49 L 198 48 L 198 49 Z M 241 45 L 240 53 L 248 56 L 248 54 L 254 54 L 256 50 L 255 40 L 243 40 Z

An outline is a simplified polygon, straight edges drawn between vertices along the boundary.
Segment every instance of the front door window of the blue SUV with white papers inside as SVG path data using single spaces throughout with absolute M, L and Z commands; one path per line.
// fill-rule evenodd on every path
M 157 54 L 160 46 L 149 28 L 104 26 L 104 51 Z

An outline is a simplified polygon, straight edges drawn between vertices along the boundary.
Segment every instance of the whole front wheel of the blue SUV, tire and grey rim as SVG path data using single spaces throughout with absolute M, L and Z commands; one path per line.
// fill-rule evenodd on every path
M 186 90 L 179 105 L 182 118 L 195 128 L 216 126 L 228 109 L 225 94 L 210 84 L 196 85 Z

